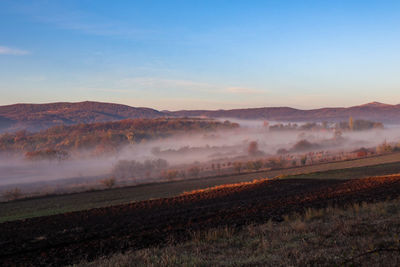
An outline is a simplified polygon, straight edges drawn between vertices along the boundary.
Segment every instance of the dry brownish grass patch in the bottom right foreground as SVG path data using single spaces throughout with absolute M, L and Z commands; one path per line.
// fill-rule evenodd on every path
M 309 209 L 241 230 L 192 233 L 186 243 L 78 266 L 399 266 L 400 200 Z

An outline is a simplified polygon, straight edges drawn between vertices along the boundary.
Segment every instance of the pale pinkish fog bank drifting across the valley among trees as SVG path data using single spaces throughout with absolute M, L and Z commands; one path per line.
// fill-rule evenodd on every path
M 400 127 L 391 125 L 385 129 L 368 131 L 345 131 L 341 137 L 334 138 L 333 130 L 325 131 L 271 131 L 263 121 L 232 120 L 240 128 L 229 131 L 209 132 L 206 134 L 186 134 L 127 145 L 114 154 L 89 156 L 88 153 L 71 154 L 64 161 L 30 161 L 23 156 L 0 155 L 0 192 L 3 189 L 18 186 L 40 188 L 43 184 L 58 185 L 68 183 L 88 183 L 109 177 L 113 167 L 121 160 L 164 159 L 170 168 L 181 168 L 193 164 L 211 164 L 246 160 L 250 158 L 248 147 L 257 142 L 259 157 L 276 156 L 279 149 L 289 153 L 300 140 L 317 144 L 316 150 L 351 151 L 361 147 L 376 147 L 385 140 L 388 143 L 400 141 Z M 277 122 L 270 122 L 274 124 Z M 299 124 L 299 123 L 298 123 Z M 134 176 L 134 174 L 132 174 Z M 152 177 L 153 180 L 157 177 Z M 152 180 L 152 181 L 153 181 Z

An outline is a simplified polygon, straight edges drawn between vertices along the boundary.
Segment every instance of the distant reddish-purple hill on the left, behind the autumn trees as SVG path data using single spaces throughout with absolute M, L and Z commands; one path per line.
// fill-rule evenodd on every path
M 159 118 L 165 114 L 151 108 L 136 108 L 101 102 L 14 104 L 0 106 L 0 131 L 39 131 L 55 125 L 109 122 L 135 118 Z

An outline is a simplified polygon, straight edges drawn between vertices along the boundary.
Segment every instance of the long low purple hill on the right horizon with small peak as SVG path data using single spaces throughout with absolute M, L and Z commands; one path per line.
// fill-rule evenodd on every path
M 346 121 L 350 116 L 385 123 L 400 123 L 400 105 L 372 102 L 349 108 L 301 110 L 290 107 L 265 107 L 230 110 L 180 110 L 174 116 L 205 116 L 211 118 L 263 119 L 276 121 Z

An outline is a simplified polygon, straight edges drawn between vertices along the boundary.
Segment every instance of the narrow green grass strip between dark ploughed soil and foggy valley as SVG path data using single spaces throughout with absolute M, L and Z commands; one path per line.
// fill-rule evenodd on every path
M 196 189 L 266 177 L 353 179 L 394 173 L 400 173 L 400 153 L 282 170 L 21 199 L 0 203 L 0 222 L 171 197 Z

